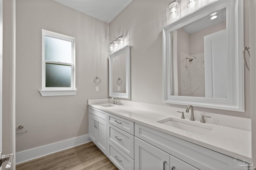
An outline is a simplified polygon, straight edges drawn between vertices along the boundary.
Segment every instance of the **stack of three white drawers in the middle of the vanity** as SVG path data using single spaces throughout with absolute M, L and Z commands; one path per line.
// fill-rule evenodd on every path
M 134 169 L 134 122 L 108 114 L 108 158 L 120 170 Z

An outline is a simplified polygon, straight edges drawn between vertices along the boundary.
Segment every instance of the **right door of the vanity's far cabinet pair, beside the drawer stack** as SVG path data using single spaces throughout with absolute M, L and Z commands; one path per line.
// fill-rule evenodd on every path
M 97 117 L 96 129 L 98 130 L 97 147 L 107 155 L 107 122 Z

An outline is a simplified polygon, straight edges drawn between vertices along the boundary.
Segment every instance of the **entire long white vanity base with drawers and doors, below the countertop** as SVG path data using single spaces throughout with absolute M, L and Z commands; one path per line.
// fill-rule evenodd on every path
M 89 107 L 89 137 L 119 170 L 240 168 L 240 160 L 180 139 L 182 135 L 174 137 L 94 107 Z

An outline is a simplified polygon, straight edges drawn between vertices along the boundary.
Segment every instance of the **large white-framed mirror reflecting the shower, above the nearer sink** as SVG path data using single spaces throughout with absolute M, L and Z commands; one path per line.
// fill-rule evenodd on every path
M 164 27 L 165 103 L 244 112 L 243 16 L 219 0 Z

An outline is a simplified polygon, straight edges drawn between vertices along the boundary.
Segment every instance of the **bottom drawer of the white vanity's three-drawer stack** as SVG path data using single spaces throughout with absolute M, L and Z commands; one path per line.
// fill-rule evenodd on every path
M 119 170 L 134 170 L 134 160 L 108 141 L 108 158 Z

